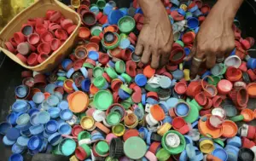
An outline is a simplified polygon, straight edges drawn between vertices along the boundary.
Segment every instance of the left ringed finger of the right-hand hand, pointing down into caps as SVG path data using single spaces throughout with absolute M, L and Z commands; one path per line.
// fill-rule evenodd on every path
M 202 60 L 204 58 L 204 54 L 201 52 L 197 52 L 192 59 L 192 65 L 190 67 L 190 78 L 194 79 L 198 73 L 198 70 L 201 66 Z

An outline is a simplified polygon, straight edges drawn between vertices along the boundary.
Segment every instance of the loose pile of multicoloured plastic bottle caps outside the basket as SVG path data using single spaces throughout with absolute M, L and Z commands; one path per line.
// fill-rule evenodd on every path
M 79 3 L 78 3 L 79 2 Z M 83 20 L 79 44 L 47 74 L 24 71 L 16 101 L 0 124 L 10 161 L 22 153 L 53 153 L 70 160 L 253 160 L 256 60 L 234 20 L 236 49 L 210 70 L 189 78 L 189 55 L 210 7 L 200 0 L 165 1 L 174 41 L 169 63 L 153 69 L 134 54 L 143 28 L 137 1 L 77 1 Z

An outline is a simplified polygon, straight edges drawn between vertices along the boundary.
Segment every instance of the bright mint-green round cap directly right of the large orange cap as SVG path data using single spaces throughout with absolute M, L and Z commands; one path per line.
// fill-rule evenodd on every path
M 113 95 L 107 90 L 99 90 L 94 96 L 93 102 L 98 110 L 105 111 L 108 106 L 113 104 Z

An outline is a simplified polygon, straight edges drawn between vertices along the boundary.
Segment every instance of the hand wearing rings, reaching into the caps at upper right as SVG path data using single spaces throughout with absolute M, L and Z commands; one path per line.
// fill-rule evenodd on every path
M 201 25 L 191 53 L 185 60 L 191 60 L 190 78 L 195 78 L 201 64 L 206 60 L 207 68 L 212 68 L 216 60 L 223 60 L 235 48 L 232 30 L 236 11 L 243 0 L 219 0 Z

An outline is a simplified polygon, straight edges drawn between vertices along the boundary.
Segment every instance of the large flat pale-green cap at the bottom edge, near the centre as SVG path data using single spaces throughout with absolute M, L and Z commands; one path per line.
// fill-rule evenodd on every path
M 147 152 L 147 146 L 143 139 L 133 136 L 125 141 L 124 152 L 125 155 L 131 159 L 143 158 Z

